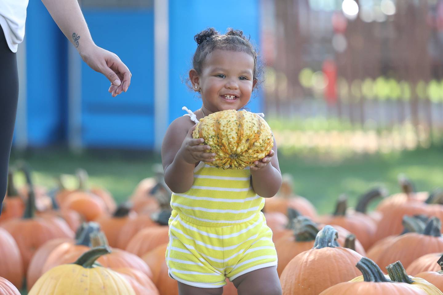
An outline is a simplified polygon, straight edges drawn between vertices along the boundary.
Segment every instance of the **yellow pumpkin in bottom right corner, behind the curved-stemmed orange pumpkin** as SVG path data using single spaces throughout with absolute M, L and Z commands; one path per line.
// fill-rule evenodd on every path
M 387 279 L 390 279 L 394 282 L 399 283 L 407 283 L 417 287 L 420 287 L 423 291 L 428 295 L 443 295 L 442 291 L 439 288 L 435 287 L 433 284 L 429 283 L 427 280 L 424 280 L 419 277 L 408 276 L 406 271 L 401 264 L 400 261 L 389 264 L 386 269 L 388 270 L 389 275 L 385 275 Z M 358 276 L 350 282 L 363 282 L 363 276 Z

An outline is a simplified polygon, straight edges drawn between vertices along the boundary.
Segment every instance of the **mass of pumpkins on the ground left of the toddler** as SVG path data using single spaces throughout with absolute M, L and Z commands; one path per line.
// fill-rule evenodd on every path
M 21 172 L 27 184 L 16 188 Z M 0 293 L 178 294 L 164 259 L 170 191 L 159 175 L 141 180 L 130 202 L 117 206 L 105 189 L 89 188 L 84 170 L 78 189 L 61 179 L 48 191 L 33 184 L 27 165 L 11 167 L 0 216 Z

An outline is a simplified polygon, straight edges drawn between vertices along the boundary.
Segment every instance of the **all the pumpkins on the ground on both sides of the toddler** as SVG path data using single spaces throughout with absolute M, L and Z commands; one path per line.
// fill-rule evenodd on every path
M 77 189 L 66 189 L 60 178 L 47 191 L 33 184 L 27 165 L 12 167 L 0 216 L 0 290 L 177 295 L 164 259 L 171 192 L 161 171 L 117 206 L 104 188 L 89 187 L 84 170 L 77 172 Z M 27 180 L 18 189 L 17 172 Z M 391 196 L 369 190 L 355 208 L 342 195 L 333 214 L 319 216 L 284 176 L 264 207 L 283 294 L 443 295 L 443 193 L 415 192 L 405 177 L 400 184 L 403 192 Z M 367 212 L 378 198 L 384 199 Z M 223 294 L 237 290 L 228 281 Z

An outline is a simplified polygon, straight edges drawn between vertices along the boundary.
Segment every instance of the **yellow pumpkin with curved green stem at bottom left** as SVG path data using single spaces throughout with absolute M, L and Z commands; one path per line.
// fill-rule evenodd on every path
M 107 247 L 96 247 L 73 264 L 51 268 L 35 282 L 28 295 L 136 295 L 123 276 L 94 264 L 98 257 L 108 253 Z

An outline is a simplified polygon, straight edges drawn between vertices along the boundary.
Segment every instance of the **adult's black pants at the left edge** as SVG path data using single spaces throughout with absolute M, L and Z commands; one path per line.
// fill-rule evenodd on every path
M 1 204 L 6 194 L 9 155 L 16 122 L 18 99 L 17 57 L 9 49 L 3 30 L 0 27 L 0 214 Z

